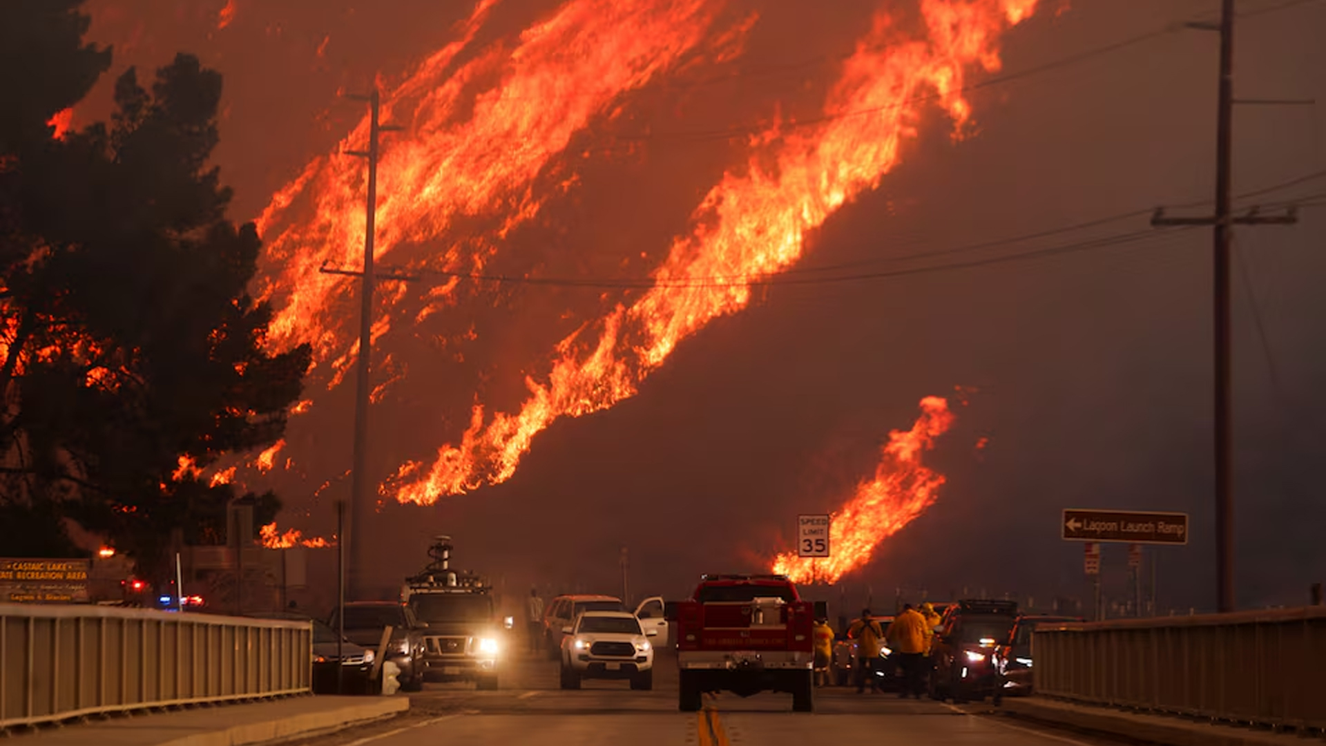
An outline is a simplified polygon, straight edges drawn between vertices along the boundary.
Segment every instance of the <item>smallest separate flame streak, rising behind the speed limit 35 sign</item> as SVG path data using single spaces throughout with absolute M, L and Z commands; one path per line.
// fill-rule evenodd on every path
M 875 547 L 911 523 L 939 496 L 944 475 L 924 463 L 922 454 L 953 425 L 953 413 L 941 397 L 920 400 L 920 418 L 911 430 L 894 430 L 880 449 L 874 479 L 857 485 L 853 498 L 829 524 L 827 558 L 801 558 L 785 552 L 774 558 L 772 571 L 794 583 L 839 577 L 870 561 Z

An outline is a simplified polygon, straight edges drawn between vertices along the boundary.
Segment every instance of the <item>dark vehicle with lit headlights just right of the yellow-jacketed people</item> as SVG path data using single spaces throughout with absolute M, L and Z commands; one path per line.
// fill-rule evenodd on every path
M 1017 601 L 973 599 L 949 607 L 931 645 L 930 696 L 957 704 L 993 694 L 994 648 L 1008 640 L 1017 616 Z

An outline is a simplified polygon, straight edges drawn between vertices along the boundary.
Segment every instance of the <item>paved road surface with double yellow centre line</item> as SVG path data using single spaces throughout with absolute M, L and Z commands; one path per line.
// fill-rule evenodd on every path
M 930 700 L 895 694 L 817 690 L 813 714 L 792 713 L 786 694 L 707 700 L 704 713 L 676 709 L 675 662 L 660 662 L 654 692 L 625 681 L 587 681 L 578 692 L 557 685 L 557 664 L 521 660 L 497 692 L 428 684 L 403 718 L 306 741 L 309 746 L 813 746 L 821 743 L 953 743 L 988 746 L 1098 746 L 1103 741 L 1033 730 L 1005 718 L 972 714 Z M 918 741 L 919 739 L 919 741 Z

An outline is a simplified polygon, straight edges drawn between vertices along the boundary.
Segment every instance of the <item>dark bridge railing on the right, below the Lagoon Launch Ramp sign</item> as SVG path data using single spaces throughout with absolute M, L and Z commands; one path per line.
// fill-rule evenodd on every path
M 1326 727 L 1326 608 L 1037 629 L 1037 694 L 1299 729 Z

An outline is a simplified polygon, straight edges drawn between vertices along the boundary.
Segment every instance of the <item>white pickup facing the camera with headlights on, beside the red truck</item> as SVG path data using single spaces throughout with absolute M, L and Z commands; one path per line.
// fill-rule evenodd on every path
M 562 689 L 585 678 L 629 678 L 631 689 L 654 689 L 652 629 L 630 612 L 585 612 L 562 628 Z

